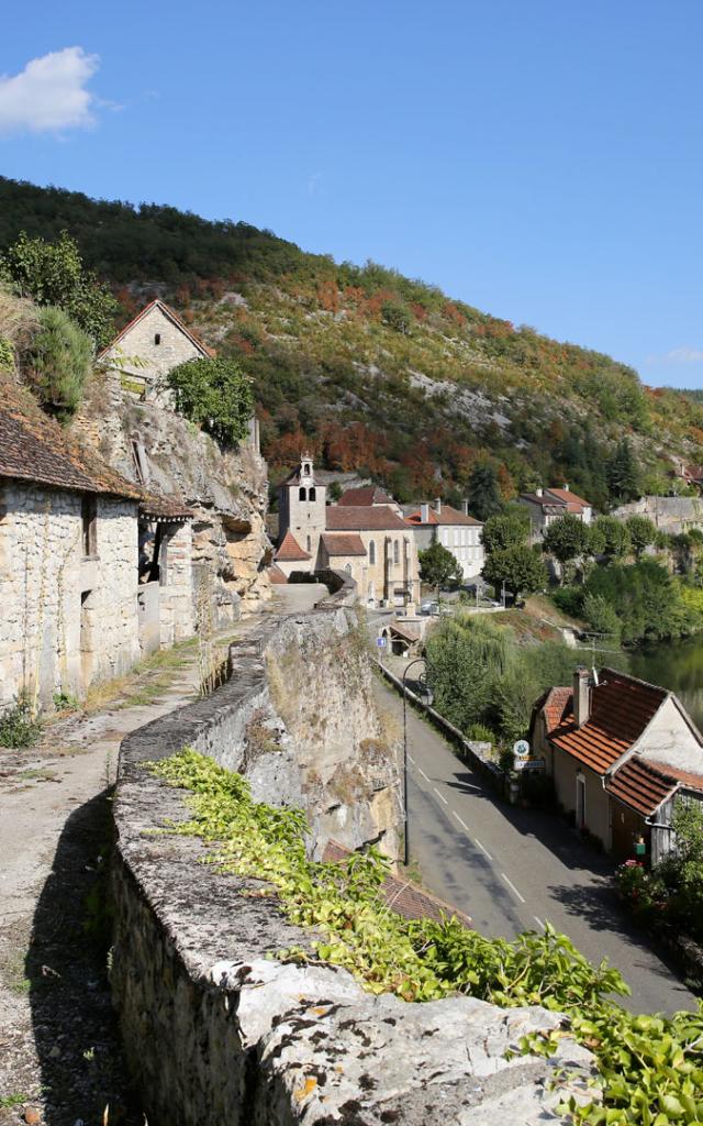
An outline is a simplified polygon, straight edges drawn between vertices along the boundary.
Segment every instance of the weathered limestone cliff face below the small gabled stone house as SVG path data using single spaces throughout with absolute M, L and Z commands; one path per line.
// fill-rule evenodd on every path
M 249 439 L 224 450 L 169 408 L 125 393 L 114 373 L 94 377 L 75 426 L 127 480 L 139 481 L 139 459 L 146 489 L 193 510 L 193 561 L 204 564 L 214 628 L 260 608 L 270 595 L 268 476 Z

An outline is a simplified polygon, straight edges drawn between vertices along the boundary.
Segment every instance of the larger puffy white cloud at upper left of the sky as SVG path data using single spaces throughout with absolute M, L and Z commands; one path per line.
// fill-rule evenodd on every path
M 94 123 L 85 83 L 98 55 L 64 47 L 31 59 L 19 74 L 0 75 L 0 133 L 60 133 Z

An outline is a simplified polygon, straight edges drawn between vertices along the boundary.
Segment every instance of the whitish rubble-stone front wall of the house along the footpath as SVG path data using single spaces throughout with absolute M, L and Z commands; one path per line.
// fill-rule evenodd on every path
M 80 696 L 139 659 L 136 503 L 97 497 L 88 558 L 81 503 L 30 482 L 0 489 L 0 706 L 22 690 Z

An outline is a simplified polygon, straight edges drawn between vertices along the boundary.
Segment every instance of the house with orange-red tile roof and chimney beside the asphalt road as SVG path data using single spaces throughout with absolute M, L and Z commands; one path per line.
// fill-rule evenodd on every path
M 623 860 L 641 840 L 657 863 L 670 849 L 677 802 L 703 803 L 703 739 L 677 697 L 614 669 L 574 673 L 533 715 L 560 806 Z

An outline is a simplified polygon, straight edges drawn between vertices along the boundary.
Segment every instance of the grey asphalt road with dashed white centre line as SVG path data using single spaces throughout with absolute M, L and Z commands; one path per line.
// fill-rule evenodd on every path
M 400 696 L 376 682 L 402 722 Z M 620 909 L 607 860 L 560 820 L 493 796 L 479 775 L 408 706 L 409 842 L 424 885 L 465 911 L 488 937 L 514 938 L 547 920 L 592 962 L 606 957 L 639 1012 L 695 1008 L 695 998 Z

